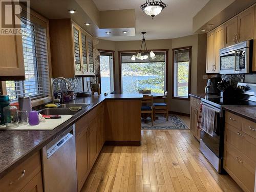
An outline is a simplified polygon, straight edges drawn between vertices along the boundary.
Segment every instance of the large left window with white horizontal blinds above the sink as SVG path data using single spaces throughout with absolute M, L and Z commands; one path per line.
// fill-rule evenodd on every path
M 12 101 L 18 97 L 40 98 L 50 95 L 46 28 L 22 17 L 25 65 L 24 81 L 6 81 L 6 91 Z

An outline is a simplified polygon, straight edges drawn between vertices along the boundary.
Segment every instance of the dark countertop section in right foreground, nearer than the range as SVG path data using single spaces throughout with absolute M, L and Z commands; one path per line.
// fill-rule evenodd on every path
M 256 122 L 256 106 L 224 106 L 224 110 Z

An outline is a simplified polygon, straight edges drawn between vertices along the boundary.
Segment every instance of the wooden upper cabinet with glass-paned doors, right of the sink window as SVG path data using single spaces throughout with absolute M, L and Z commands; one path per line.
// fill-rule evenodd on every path
M 53 78 L 74 76 L 94 76 L 94 63 L 89 65 L 89 37 L 71 19 L 49 20 L 51 59 Z M 93 54 L 92 54 L 93 55 Z

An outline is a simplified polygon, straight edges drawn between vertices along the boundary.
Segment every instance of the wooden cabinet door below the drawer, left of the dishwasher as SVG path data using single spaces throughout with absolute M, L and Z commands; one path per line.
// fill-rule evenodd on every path
M 42 173 L 39 172 L 20 192 L 42 192 Z

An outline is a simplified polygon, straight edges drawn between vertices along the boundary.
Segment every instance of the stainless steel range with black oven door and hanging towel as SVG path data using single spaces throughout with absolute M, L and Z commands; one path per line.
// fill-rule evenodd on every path
M 256 105 L 256 84 L 238 83 L 238 87 L 249 86 L 250 90 L 237 95 L 237 98 L 207 98 L 202 99 L 202 104 L 210 106 L 216 111 L 216 130 L 213 136 L 204 131 L 200 135 L 200 151 L 208 159 L 218 173 L 224 173 L 223 153 L 224 153 L 224 127 L 225 111 L 224 106 Z

